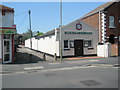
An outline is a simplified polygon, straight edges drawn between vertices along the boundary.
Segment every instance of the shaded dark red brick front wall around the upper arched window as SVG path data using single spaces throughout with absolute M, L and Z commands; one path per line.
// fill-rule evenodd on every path
M 111 34 L 114 34 L 116 37 L 120 36 L 120 16 L 118 11 L 120 10 L 120 2 L 116 2 L 106 9 L 107 11 L 107 23 L 106 23 L 106 36 L 109 37 Z M 109 16 L 115 17 L 115 28 L 109 28 Z M 107 39 L 109 41 L 109 39 Z M 118 43 L 118 38 L 115 39 L 115 43 Z

